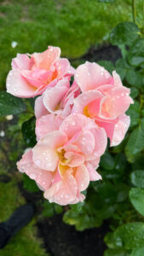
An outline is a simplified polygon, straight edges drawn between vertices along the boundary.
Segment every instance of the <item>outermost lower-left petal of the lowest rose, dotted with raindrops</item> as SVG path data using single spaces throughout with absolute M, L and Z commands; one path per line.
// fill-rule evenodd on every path
M 34 179 L 42 189 L 49 189 L 52 180 L 51 172 L 38 168 L 32 161 L 32 150 L 23 154 L 22 159 L 17 162 L 17 167 L 20 172 L 25 172 L 26 175 Z

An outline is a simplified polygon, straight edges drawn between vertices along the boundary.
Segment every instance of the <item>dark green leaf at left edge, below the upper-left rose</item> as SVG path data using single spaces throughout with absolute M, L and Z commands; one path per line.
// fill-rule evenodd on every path
M 0 115 L 22 113 L 26 105 L 18 97 L 14 97 L 6 91 L 0 91 Z

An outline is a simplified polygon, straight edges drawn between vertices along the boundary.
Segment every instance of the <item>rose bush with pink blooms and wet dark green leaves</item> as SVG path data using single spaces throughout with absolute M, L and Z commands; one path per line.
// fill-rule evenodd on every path
M 31 148 L 18 169 L 29 189 L 35 180 L 44 190 L 44 216 L 64 211 L 64 221 L 77 230 L 109 218 L 105 256 L 142 255 L 144 38 L 130 22 L 118 24 L 110 38 L 122 51 L 114 64 L 85 62 L 74 70 L 55 47 L 17 55 L 7 79 L 16 97 L 0 94 L 0 114 L 24 112 L 27 100 L 17 97 L 37 96 L 36 125 L 34 118 L 22 125 Z M 50 202 L 69 204 L 68 210 Z

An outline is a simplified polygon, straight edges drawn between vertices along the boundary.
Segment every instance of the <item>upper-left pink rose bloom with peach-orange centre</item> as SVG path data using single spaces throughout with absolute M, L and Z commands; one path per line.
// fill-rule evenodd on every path
M 20 55 L 12 61 L 12 70 L 6 82 L 7 91 L 18 97 L 34 97 L 62 78 L 69 79 L 74 68 L 65 58 L 60 58 L 60 48 L 49 46 L 43 53 Z

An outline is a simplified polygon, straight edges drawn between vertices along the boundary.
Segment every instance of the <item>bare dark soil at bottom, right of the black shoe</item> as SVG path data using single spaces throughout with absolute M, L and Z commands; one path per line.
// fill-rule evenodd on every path
M 106 245 L 103 237 L 109 231 L 108 224 L 100 228 L 82 231 L 64 224 L 61 215 L 44 219 L 37 224 L 44 238 L 47 252 L 55 256 L 102 256 Z

